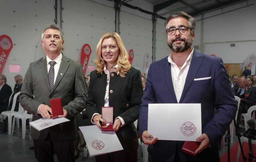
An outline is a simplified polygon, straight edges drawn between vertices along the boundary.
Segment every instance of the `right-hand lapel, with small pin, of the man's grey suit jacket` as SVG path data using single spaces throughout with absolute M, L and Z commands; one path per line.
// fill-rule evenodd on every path
M 61 65 L 59 68 L 59 72 L 57 74 L 57 78 L 54 83 L 54 87 L 52 88 L 52 92 L 59 85 L 59 83 L 60 83 L 61 79 L 63 78 L 64 74 L 66 73 L 68 67 L 69 67 L 69 59 L 62 54 Z

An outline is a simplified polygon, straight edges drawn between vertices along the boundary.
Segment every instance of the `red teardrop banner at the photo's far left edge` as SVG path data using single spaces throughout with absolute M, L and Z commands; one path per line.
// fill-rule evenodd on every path
M 3 72 L 5 62 L 12 50 L 12 39 L 8 35 L 0 36 L 0 74 Z

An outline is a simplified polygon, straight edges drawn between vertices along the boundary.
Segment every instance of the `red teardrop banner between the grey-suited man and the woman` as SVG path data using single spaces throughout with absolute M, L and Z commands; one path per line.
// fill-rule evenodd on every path
M 85 72 L 86 72 L 86 69 L 88 66 L 88 62 L 89 62 L 91 53 L 92 53 L 92 50 L 91 50 L 91 47 L 89 46 L 89 44 L 83 45 L 82 50 L 81 50 L 80 63 L 82 64 L 84 75 L 85 75 Z

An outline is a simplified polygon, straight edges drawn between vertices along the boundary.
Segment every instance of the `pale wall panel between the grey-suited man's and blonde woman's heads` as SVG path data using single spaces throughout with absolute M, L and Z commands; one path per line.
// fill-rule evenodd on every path
M 95 49 L 100 37 L 115 30 L 114 9 L 90 0 L 62 0 L 62 7 L 63 53 L 80 62 L 81 48 L 89 44 L 92 54 L 88 66 L 94 66 Z M 88 74 L 87 68 L 85 75 Z

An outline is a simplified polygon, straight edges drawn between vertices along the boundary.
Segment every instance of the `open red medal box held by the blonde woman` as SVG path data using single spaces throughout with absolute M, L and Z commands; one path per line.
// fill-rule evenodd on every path
M 102 123 L 101 131 L 113 131 L 113 110 L 113 107 L 102 107 L 102 119 L 105 123 Z

